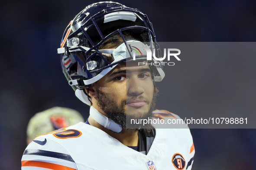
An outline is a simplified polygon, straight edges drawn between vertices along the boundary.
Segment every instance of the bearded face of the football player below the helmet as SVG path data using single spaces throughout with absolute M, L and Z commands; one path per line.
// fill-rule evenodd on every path
M 118 64 L 96 85 L 98 106 L 117 123 L 122 125 L 126 115 L 135 119 L 151 116 L 154 85 L 149 66 Z

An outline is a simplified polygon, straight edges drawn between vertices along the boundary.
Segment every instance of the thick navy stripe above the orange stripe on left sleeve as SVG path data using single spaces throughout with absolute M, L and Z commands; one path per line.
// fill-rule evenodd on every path
M 62 153 L 52 152 L 52 151 L 44 151 L 39 149 L 27 149 L 25 150 L 23 155 L 25 154 L 33 154 L 33 155 L 39 155 L 39 156 L 45 156 L 45 157 L 55 157 L 58 159 L 75 162 L 69 154 L 62 154 Z

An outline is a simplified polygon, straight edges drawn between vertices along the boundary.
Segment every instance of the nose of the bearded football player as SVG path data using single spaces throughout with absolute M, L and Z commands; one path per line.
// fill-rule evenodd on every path
M 129 96 L 138 96 L 144 93 L 143 83 L 138 78 L 130 78 L 126 81 L 126 91 Z

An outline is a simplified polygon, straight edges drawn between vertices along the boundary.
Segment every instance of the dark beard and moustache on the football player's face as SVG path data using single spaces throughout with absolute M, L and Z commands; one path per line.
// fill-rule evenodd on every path
M 125 110 L 126 99 L 123 99 L 120 105 L 118 105 L 113 98 L 110 98 L 107 94 L 102 92 L 100 88 L 96 88 L 95 94 L 97 99 L 97 105 L 100 107 L 100 109 L 104 111 L 104 113 L 106 113 L 106 116 L 110 120 L 113 120 L 115 123 L 121 125 L 124 130 L 143 128 L 150 131 L 150 129 L 152 129 L 151 124 L 143 125 L 142 124 L 143 122 L 139 124 L 134 124 L 134 123 L 131 124 L 131 119 L 146 119 L 146 120 L 152 119 L 152 111 L 156 105 L 155 104 L 156 94 L 153 94 L 153 98 L 151 101 L 148 98 L 143 98 L 143 96 L 137 97 L 137 98 L 136 97 L 127 98 L 128 101 L 131 99 L 144 99 L 146 103 L 149 104 L 149 110 L 146 111 L 141 117 L 138 117 L 130 113 L 128 114 L 126 113 L 126 110 Z

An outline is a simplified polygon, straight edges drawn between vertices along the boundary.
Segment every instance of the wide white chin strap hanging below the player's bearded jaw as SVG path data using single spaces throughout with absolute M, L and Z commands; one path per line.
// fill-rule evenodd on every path
M 113 120 L 108 119 L 106 116 L 101 114 L 98 110 L 96 110 L 93 106 L 90 108 L 90 116 L 100 125 L 104 126 L 107 129 L 112 130 L 113 132 L 121 132 L 122 126 L 115 123 Z

